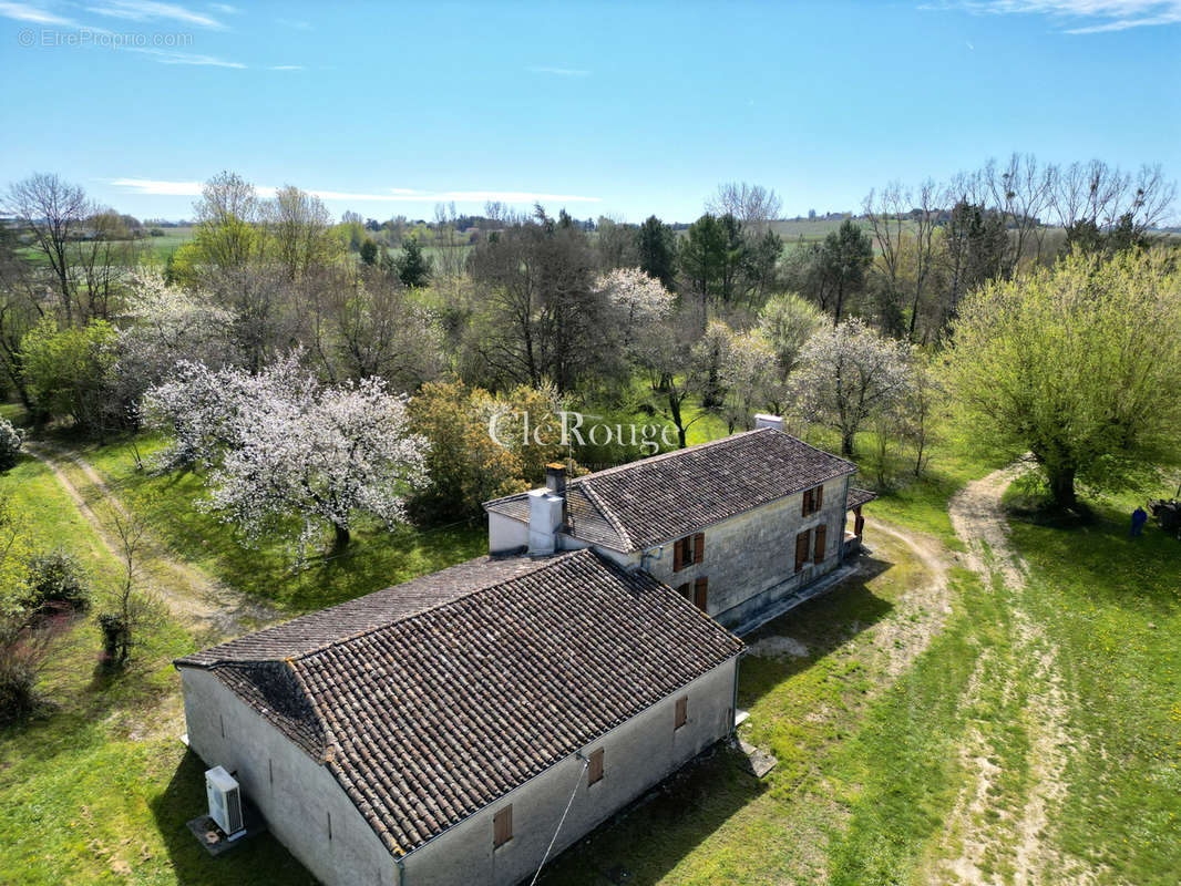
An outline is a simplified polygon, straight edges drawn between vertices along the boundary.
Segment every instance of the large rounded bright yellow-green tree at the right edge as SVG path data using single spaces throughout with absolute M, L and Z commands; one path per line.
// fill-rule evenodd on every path
M 1127 489 L 1181 438 L 1181 274 L 1162 252 L 1053 268 L 968 297 L 952 327 L 952 399 L 973 439 L 1032 452 L 1053 503 Z

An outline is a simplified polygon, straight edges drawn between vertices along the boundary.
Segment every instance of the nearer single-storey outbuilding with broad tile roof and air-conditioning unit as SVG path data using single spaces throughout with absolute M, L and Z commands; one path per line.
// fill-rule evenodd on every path
M 176 666 L 190 747 L 320 880 L 470 886 L 528 877 L 729 735 L 742 650 L 581 549 L 479 558 Z

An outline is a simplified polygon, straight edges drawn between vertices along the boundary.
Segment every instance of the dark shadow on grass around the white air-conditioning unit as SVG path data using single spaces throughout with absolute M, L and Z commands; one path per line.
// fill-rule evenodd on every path
M 205 853 L 185 825 L 207 810 L 204 770 L 196 754 L 185 753 L 168 787 L 149 801 L 176 881 L 182 886 L 315 886 L 317 879 L 270 833 L 243 840 L 218 858 Z

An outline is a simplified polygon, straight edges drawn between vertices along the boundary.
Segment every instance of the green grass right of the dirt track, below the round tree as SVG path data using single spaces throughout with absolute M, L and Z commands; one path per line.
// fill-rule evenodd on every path
M 1154 523 L 1130 538 L 1142 501 L 1091 501 L 1084 526 L 1010 522 L 1031 613 L 1074 699 L 1078 744 L 1055 839 L 1111 881 L 1163 885 L 1181 871 L 1181 542 Z

